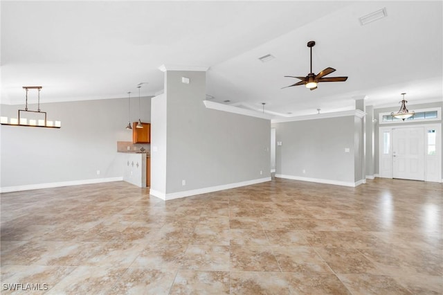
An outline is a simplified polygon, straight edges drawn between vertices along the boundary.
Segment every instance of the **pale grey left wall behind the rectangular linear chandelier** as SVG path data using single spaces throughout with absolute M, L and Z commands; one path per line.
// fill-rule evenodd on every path
M 1 105 L 1 116 L 17 118 L 23 108 Z M 48 120 L 61 120 L 62 128 L 2 125 L 1 191 L 122 179 L 116 150 L 117 141 L 132 141 L 127 108 L 127 98 L 47 103 L 40 109 Z M 138 120 L 138 98 L 132 98 L 131 119 Z M 141 119 L 150 122 L 150 98 L 141 98 Z

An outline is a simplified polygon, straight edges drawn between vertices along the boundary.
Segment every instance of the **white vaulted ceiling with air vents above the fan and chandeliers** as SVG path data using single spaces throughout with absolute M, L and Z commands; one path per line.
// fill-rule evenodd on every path
M 442 101 L 442 19 L 442 1 L 1 1 L 1 103 L 24 104 L 25 85 L 42 103 L 137 96 L 141 82 L 152 96 L 162 64 L 209 66 L 208 98 L 275 116 Z M 282 89 L 309 73 L 310 40 L 314 73 L 349 78 Z

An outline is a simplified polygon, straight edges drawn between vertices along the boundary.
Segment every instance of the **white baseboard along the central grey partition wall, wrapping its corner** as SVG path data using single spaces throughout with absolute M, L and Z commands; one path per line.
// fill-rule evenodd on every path
M 150 195 L 158 197 L 165 201 L 170 199 L 179 199 L 182 197 L 190 197 L 193 195 L 201 195 L 206 193 L 213 193 L 219 190 L 228 190 L 230 188 L 239 188 L 240 186 L 251 186 L 252 184 L 260 184 L 262 182 L 271 181 L 271 177 L 265 177 L 260 179 L 253 179 L 248 181 L 240 181 L 234 184 L 223 184 L 221 186 L 210 186 L 208 188 L 197 188 L 196 190 L 185 190 L 177 193 L 161 193 L 158 190 L 150 190 Z

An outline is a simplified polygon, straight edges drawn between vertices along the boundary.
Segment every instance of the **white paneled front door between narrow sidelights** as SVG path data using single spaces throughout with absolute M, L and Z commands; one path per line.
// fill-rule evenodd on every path
M 392 129 L 393 177 L 424 180 L 424 128 Z

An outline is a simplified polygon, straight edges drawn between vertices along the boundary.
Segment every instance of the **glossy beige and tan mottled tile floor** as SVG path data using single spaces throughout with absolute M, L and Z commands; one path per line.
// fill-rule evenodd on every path
M 4 193 L 1 294 L 442 294 L 442 208 L 442 184 L 398 179 Z

